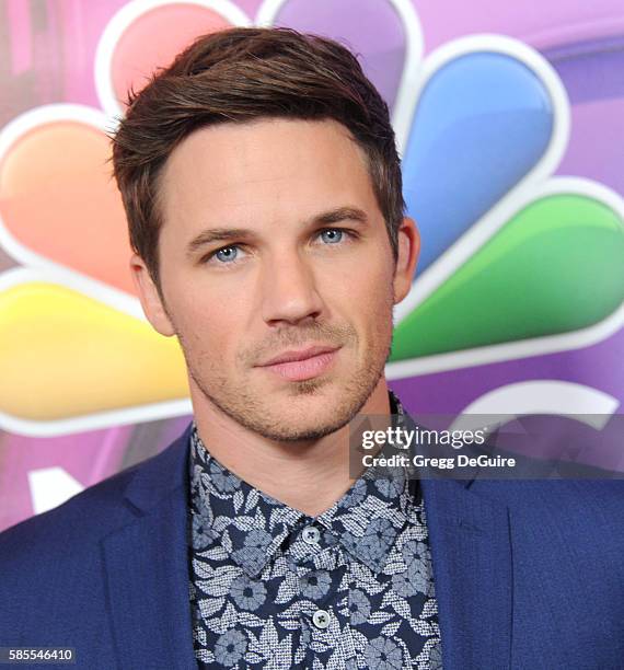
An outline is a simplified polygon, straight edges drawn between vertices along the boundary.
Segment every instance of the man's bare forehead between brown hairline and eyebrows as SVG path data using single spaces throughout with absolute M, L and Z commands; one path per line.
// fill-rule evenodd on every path
M 159 186 L 165 221 L 181 211 L 287 216 L 291 208 L 375 206 L 363 150 L 345 126 L 326 119 L 200 128 L 174 149 Z

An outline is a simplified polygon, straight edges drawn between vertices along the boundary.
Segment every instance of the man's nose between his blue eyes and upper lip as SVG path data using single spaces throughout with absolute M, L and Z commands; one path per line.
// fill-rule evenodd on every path
M 268 325 L 316 319 L 323 310 L 312 267 L 297 252 L 276 254 L 264 268 L 263 319 Z

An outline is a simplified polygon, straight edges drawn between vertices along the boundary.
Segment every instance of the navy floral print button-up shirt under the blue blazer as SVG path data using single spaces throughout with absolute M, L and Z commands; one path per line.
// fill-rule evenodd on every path
M 441 668 L 416 481 L 369 467 L 310 517 L 228 471 L 195 425 L 189 476 L 198 668 Z

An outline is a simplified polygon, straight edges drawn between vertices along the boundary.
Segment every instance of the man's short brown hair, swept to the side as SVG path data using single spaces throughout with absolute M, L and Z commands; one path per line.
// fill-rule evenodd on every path
M 154 72 L 113 136 L 130 244 L 160 290 L 158 176 L 173 149 L 213 124 L 262 117 L 334 119 L 363 149 L 394 262 L 405 203 L 388 105 L 340 44 L 291 28 L 205 35 Z

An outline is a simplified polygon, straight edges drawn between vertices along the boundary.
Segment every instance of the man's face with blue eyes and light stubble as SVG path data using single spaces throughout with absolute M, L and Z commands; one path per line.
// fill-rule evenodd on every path
M 151 323 L 180 339 L 195 412 L 209 403 L 286 441 L 346 425 L 382 379 L 392 307 L 417 253 L 408 234 L 395 275 L 365 154 L 348 130 L 292 119 L 196 130 L 166 162 L 160 206 L 164 302 L 145 267 L 134 268 Z M 335 350 L 265 365 L 311 346 Z

